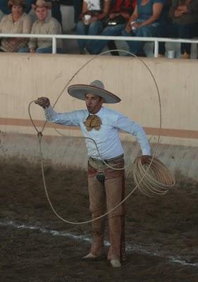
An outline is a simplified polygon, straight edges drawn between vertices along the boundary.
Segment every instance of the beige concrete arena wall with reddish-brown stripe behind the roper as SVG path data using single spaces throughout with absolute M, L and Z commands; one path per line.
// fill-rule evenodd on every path
M 37 155 L 35 154 L 37 149 L 34 147 L 37 146 L 36 132 L 30 123 L 27 111 L 28 104 L 37 97 L 47 96 L 51 99 L 51 104 L 54 104 L 61 95 L 55 106 L 56 111 L 85 107 L 84 102 L 70 97 L 63 89 L 70 78 L 92 58 L 94 57 L 66 54 L 0 54 L 1 69 L 4 70 L 0 73 L 1 156 L 4 158 L 31 156 L 30 159 L 34 159 L 33 156 Z M 140 123 L 146 130 L 153 147 L 159 135 L 161 106 L 161 149 L 158 155 L 167 163 L 172 157 L 171 166 L 174 170 L 180 170 L 187 176 L 197 178 L 198 62 L 149 58 L 144 59 L 144 62 L 156 79 L 160 99 L 154 80 L 144 64 L 138 59 L 128 57 L 97 56 L 82 68 L 70 84 L 79 82 L 89 84 L 95 79 L 103 80 L 106 88 L 122 99 L 119 104 L 110 106 Z M 36 125 L 42 128 L 44 125 L 42 109 L 32 104 L 30 111 Z M 59 130 L 68 137 L 81 136 L 79 128 L 59 128 Z M 57 156 L 55 152 L 51 154 L 53 147 L 57 149 L 57 144 L 61 150 L 65 142 L 69 142 L 72 152 L 74 141 L 70 141 L 70 138 L 67 141 L 60 137 L 52 138 L 55 135 L 58 136 L 58 133 L 52 125 L 48 124 L 44 128 L 44 136 L 48 136 L 47 144 L 50 145 L 50 149 L 44 152 L 46 159 L 59 158 L 58 154 L 61 156 L 62 152 L 57 153 Z M 121 137 L 128 152 L 134 157 L 132 152 L 136 146 L 132 143 L 134 138 L 123 133 Z M 35 142 L 34 146 L 32 142 Z M 76 148 L 81 144 L 78 142 L 75 143 Z M 135 152 L 138 153 L 138 150 L 136 149 Z M 73 150 L 73 154 L 75 152 L 76 149 Z M 84 149 L 82 152 L 78 150 L 78 153 L 81 157 L 86 155 Z M 70 159 L 73 159 L 73 154 L 70 154 Z M 79 161 L 76 162 L 78 166 Z

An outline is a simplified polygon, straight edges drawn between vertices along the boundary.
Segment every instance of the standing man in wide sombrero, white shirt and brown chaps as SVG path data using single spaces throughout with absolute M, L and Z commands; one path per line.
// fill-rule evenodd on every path
M 71 85 L 68 93 L 77 99 L 85 100 L 87 109 L 57 114 L 47 97 L 39 97 L 36 104 L 44 108 L 47 121 L 62 125 L 80 126 L 85 137 L 88 161 L 89 209 L 92 219 L 110 211 L 119 204 L 125 195 L 124 152 L 119 131 L 135 135 L 142 149 L 141 162 L 150 157 L 147 136 L 140 125 L 123 114 L 103 106 L 120 102 L 120 98 L 104 89 L 99 80 L 90 85 Z M 93 141 L 94 140 L 94 141 Z M 112 168 L 109 168 L 109 166 Z M 114 170 L 113 168 L 121 168 Z M 123 168 L 123 169 L 122 169 Z M 110 247 L 108 260 L 113 267 L 120 267 L 125 260 L 125 204 L 120 204 L 109 214 Z M 92 223 L 92 246 L 84 259 L 101 256 L 104 247 L 105 219 Z

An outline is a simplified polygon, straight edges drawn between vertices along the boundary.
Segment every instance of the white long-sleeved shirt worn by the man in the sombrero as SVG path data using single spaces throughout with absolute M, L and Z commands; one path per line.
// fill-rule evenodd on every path
M 49 106 L 49 108 L 44 109 L 44 112 L 47 121 L 51 123 L 80 126 L 84 137 L 92 138 L 96 142 L 99 150 L 98 152 L 96 145 L 92 140 L 85 139 L 89 157 L 96 159 L 101 159 L 101 157 L 102 159 L 111 159 L 123 154 L 123 146 L 119 136 L 120 130 L 136 137 L 137 142 L 142 149 L 142 154 L 151 154 L 147 135 L 144 133 L 143 128 L 134 121 L 131 121 L 127 116 L 124 116 L 117 111 L 113 111 L 112 109 L 102 106 L 97 112 L 97 116 L 101 118 L 101 128 L 99 130 L 93 128 L 90 131 L 87 131 L 84 124 L 87 116 L 89 116 L 89 111 L 86 109 L 58 114 L 51 106 Z M 101 157 L 99 156 L 99 153 Z

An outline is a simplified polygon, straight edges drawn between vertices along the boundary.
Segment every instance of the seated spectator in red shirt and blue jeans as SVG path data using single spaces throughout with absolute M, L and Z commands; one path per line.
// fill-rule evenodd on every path
M 111 5 L 109 17 L 105 20 L 106 27 L 101 32 L 104 36 L 121 35 L 123 28 L 128 22 L 132 11 L 135 8 L 136 0 L 115 0 Z M 116 44 L 108 40 L 91 40 L 87 45 L 90 54 L 99 54 L 105 45 L 108 44 L 109 49 L 116 49 Z M 116 52 L 112 52 L 112 55 Z M 118 55 L 118 52 L 116 53 Z

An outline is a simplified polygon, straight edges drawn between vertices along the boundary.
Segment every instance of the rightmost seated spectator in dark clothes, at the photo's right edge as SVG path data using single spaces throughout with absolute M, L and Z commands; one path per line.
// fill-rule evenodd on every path
M 192 38 L 193 30 L 198 23 L 197 0 L 172 0 L 170 16 L 173 25 L 168 30 L 170 35 L 180 38 Z M 190 43 L 181 43 L 181 58 L 190 59 Z

